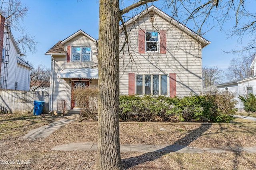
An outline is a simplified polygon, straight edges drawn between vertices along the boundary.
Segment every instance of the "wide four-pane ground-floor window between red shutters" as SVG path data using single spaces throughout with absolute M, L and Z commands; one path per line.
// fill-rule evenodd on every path
M 167 75 L 137 74 L 136 94 L 167 95 Z

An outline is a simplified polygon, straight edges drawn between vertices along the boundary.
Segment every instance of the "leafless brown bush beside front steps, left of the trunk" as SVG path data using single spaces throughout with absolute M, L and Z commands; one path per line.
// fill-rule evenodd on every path
M 72 94 L 72 100 L 81 108 L 82 113 L 90 119 L 97 121 L 98 87 L 77 85 L 72 87 Z

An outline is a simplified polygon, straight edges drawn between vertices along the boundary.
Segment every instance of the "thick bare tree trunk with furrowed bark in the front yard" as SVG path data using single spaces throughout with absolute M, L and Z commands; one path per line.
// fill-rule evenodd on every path
M 97 170 L 121 170 L 119 144 L 119 0 L 100 0 Z

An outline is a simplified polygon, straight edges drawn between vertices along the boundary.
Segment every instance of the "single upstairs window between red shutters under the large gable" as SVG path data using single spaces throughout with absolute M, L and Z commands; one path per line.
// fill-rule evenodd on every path
M 158 51 L 158 32 L 146 31 L 146 51 Z

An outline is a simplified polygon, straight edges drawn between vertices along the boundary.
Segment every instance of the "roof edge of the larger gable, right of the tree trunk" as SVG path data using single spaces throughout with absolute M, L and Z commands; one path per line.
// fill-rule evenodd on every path
M 148 7 L 147 9 L 145 9 L 142 12 L 140 12 L 136 16 L 130 18 L 128 21 L 125 22 L 125 25 L 128 25 L 128 24 L 132 23 L 133 21 L 136 21 L 138 18 L 140 18 L 140 17 L 148 14 L 148 12 L 152 12 L 152 11 L 154 13 L 158 14 L 159 16 L 161 16 L 162 18 L 164 18 L 165 20 L 167 20 L 168 22 L 172 23 L 174 26 L 176 26 L 181 31 L 184 31 L 185 33 L 187 33 L 188 35 L 190 35 L 191 37 L 193 37 L 194 39 L 196 39 L 197 41 L 202 43 L 202 48 L 206 47 L 206 45 L 211 43 L 210 41 L 208 41 L 207 39 L 205 39 L 202 36 L 198 35 L 194 31 L 192 31 L 191 29 L 189 29 L 188 27 L 183 25 L 182 23 L 178 22 L 177 20 L 175 20 L 174 18 L 169 16 L 168 14 L 164 13 L 162 10 L 156 8 L 156 6 L 154 6 L 154 5 Z M 119 30 L 120 29 L 122 29 L 122 25 L 120 25 Z

